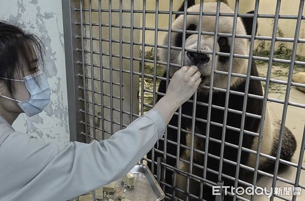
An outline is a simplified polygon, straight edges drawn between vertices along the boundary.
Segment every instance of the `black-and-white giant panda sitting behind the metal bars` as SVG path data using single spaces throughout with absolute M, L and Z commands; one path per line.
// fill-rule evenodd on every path
M 216 13 L 217 3 L 208 1 L 203 3 L 203 12 L 207 13 Z M 188 12 L 199 12 L 200 5 L 195 5 L 195 1 L 188 1 Z M 184 11 L 184 4 L 181 5 L 179 11 Z M 234 13 L 227 4 L 221 3 L 220 5 L 221 13 Z M 253 12 L 252 12 L 253 13 Z M 215 31 L 215 16 L 203 16 L 202 17 L 202 31 L 212 32 Z M 187 15 L 186 27 L 189 31 L 198 31 L 199 26 L 199 16 L 198 15 Z M 237 19 L 236 25 L 236 34 L 237 35 L 251 35 L 252 33 L 252 18 L 240 18 Z M 175 21 L 172 23 L 172 29 L 182 30 L 184 24 L 184 15 L 177 15 Z M 233 28 L 233 17 L 220 16 L 218 24 L 218 33 L 232 33 Z M 212 51 L 213 50 L 213 40 L 214 36 L 201 35 L 201 50 Z M 218 37 L 218 44 L 216 51 L 230 53 L 231 38 L 230 37 Z M 164 37 L 164 45 L 168 45 L 168 36 Z M 181 47 L 182 46 L 182 33 L 171 33 L 171 46 Z M 197 34 L 191 35 L 186 34 L 185 47 L 187 49 L 196 49 L 197 48 Z M 234 53 L 241 55 L 249 55 L 250 40 L 248 39 L 235 39 Z M 195 65 L 198 67 L 202 82 L 200 83 L 197 90 L 197 102 L 208 103 L 209 100 L 209 90 L 205 89 L 204 86 L 209 86 L 210 83 L 210 73 L 211 73 L 211 64 L 212 64 L 212 55 L 197 53 L 197 52 L 181 52 L 181 50 L 171 49 L 170 50 L 170 63 L 181 64 L 181 54 L 184 53 L 184 65 L 192 66 Z M 160 59 L 163 62 L 167 62 L 168 50 L 160 49 Z M 232 72 L 238 74 L 247 74 L 248 59 L 233 58 Z M 226 56 L 216 55 L 215 61 L 215 70 L 228 72 L 229 68 L 229 58 Z M 177 70 L 177 67 L 170 67 L 169 76 L 171 77 L 174 72 Z M 166 77 L 167 72 L 164 73 Z M 252 62 L 251 67 L 251 76 L 259 76 L 256 65 Z M 227 76 L 214 74 L 214 87 L 226 89 L 227 86 Z M 245 92 L 246 79 L 239 77 L 231 77 L 230 90 L 236 92 Z M 164 94 L 166 92 L 166 81 L 161 80 L 160 86 L 158 89 L 159 94 Z M 262 84 L 259 80 L 250 79 L 249 83 L 249 94 L 263 96 Z M 208 157 L 207 157 L 207 173 L 206 179 L 217 183 L 218 182 L 218 171 L 219 171 L 219 157 L 221 153 L 221 139 L 222 139 L 222 130 L 223 127 L 219 124 L 223 124 L 224 120 L 224 111 L 220 107 L 224 108 L 226 93 L 214 90 L 212 93 L 212 105 L 215 107 L 211 108 L 210 121 L 213 124 L 210 124 L 209 128 L 209 145 L 208 145 Z M 161 95 L 158 95 L 157 101 L 162 98 Z M 193 97 L 191 98 L 193 100 Z M 243 95 L 230 94 L 229 96 L 229 109 L 242 111 L 243 105 Z M 260 116 L 262 114 L 263 100 L 248 97 L 247 100 L 247 109 L 246 112 L 257 114 Z M 192 136 L 185 131 L 191 131 L 192 129 L 192 117 L 193 116 L 193 103 L 186 102 L 181 107 L 182 114 L 181 117 L 181 131 L 180 139 L 177 139 L 178 136 L 178 116 L 174 115 L 167 127 L 167 143 L 166 143 L 166 153 L 165 158 L 166 163 L 179 169 L 182 169 L 186 172 L 189 172 L 190 167 L 190 149 L 186 147 L 191 147 Z M 207 120 L 208 106 L 207 104 L 197 104 L 196 106 L 196 118 Z M 222 176 L 221 181 L 224 182 L 224 186 L 234 186 L 234 178 L 236 171 L 236 162 L 238 154 L 238 142 L 239 142 L 239 131 L 232 129 L 241 127 L 241 112 L 240 114 L 233 113 L 228 111 L 227 114 L 227 129 L 225 133 L 225 146 L 224 146 L 224 161 L 222 164 L 222 174 L 227 177 Z M 260 128 L 260 119 L 252 118 L 246 116 L 245 118 L 245 127 L 244 130 L 251 131 L 252 133 L 259 133 Z M 272 119 L 272 116 L 266 108 L 263 137 L 261 140 L 261 153 L 276 156 L 278 139 L 279 139 L 279 130 L 280 124 Z M 196 121 L 195 122 L 195 133 L 194 136 L 194 149 L 193 152 L 193 167 L 192 174 L 202 178 L 203 177 L 203 166 L 204 166 L 204 153 L 205 151 L 205 134 L 206 134 L 206 121 Z M 242 139 L 242 148 L 257 150 L 258 137 L 251 135 L 249 133 L 243 134 Z M 177 141 L 180 142 L 179 153 L 177 153 Z M 164 151 L 164 141 L 159 141 L 159 146 L 155 147 L 156 151 L 154 157 L 152 157 L 151 152 L 147 154 L 148 159 L 156 159 L 157 157 L 163 157 Z M 281 150 L 281 159 L 290 161 L 293 153 L 296 149 L 296 140 L 293 134 L 285 127 L 283 135 L 283 143 Z M 177 161 L 175 156 L 179 154 L 179 157 L 182 161 Z M 241 152 L 240 163 L 247 165 L 249 167 L 254 167 L 256 160 L 255 154 L 250 154 L 248 152 Z M 151 166 L 151 163 L 148 163 L 148 166 Z M 275 161 L 267 159 L 263 156 L 259 158 L 259 169 L 262 171 L 273 170 L 275 166 Z M 156 169 L 155 174 L 156 174 Z M 238 179 L 243 181 L 248 181 L 252 183 L 253 176 L 251 172 L 239 168 L 239 177 Z M 186 200 L 186 194 L 192 195 L 189 200 L 197 200 L 200 196 L 200 183 L 193 179 L 190 180 L 190 188 L 187 190 L 187 178 L 181 174 L 175 174 L 175 183 L 173 182 L 173 170 L 167 168 L 165 176 L 166 193 L 173 194 L 173 186 L 176 188 L 175 196 L 181 200 Z M 231 179 L 229 179 L 231 178 Z M 177 190 L 177 189 L 180 189 Z M 181 192 L 182 191 L 182 192 Z M 183 192 L 184 191 L 184 192 Z M 215 200 L 215 196 L 212 195 L 212 188 L 208 185 L 203 185 L 203 198 L 205 200 Z M 225 200 L 232 200 L 232 197 L 229 195 L 225 196 Z

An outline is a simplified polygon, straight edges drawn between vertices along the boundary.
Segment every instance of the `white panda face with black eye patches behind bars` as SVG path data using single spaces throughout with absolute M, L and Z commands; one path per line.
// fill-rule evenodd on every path
M 204 3 L 203 12 L 216 13 L 217 3 Z M 195 5 L 188 8 L 188 12 L 199 12 L 200 5 Z M 234 13 L 226 4 L 221 3 L 220 13 Z M 231 34 L 233 29 L 233 17 L 219 17 L 218 33 Z M 203 16 L 202 24 L 199 24 L 198 15 L 187 16 L 187 30 L 198 31 L 199 25 L 203 32 L 214 32 L 215 31 L 216 16 Z M 180 15 L 172 23 L 172 29 L 183 30 L 184 16 Z M 240 18 L 237 18 L 236 25 L 237 35 L 246 35 L 245 27 Z M 185 51 L 184 52 L 184 65 L 198 67 L 201 73 L 202 82 L 199 85 L 199 90 L 202 89 L 203 85 L 209 86 L 210 74 L 212 67 L 212 54 L 197 53 L 197 40 L 198 34 L 186 34 L 185 48 L 194 49 L 195 52 Z M 200 50 L 213 51 L 214 36 L 201 35 L 200 37 Z M 168 36 L 165 37 L 163 44 L 168 45 Z M 182 33 L 172 33 L 171 35 L 171 46 L 182 47 Z M 231 37 L 218 37 L 216 44 L 216 51 L 230 53 L 231 48 Z M 167 62 L 167 49 L 161 49 L 160 58 L 162 61 Z M 181 50 L 171 50 L 170 62 L 174 64 L 181 64 Z M 249 55 L 249 40 L 235 38 L 234 54 Z M 248 60 L 233 58 L 232 72 L 245 74 L 247 72 Z M 178 70 L 176 67 L 170 68 L 170 75 Z M 229 71 L 229 57 L 216 55 L 215 58 L 215 70 L 218 71 Z M 230 85 L 238 83 L 240 79 L 231 77 Z M 227 75 L 214 74 L 214 86 L 225 89 L 227 85 Z

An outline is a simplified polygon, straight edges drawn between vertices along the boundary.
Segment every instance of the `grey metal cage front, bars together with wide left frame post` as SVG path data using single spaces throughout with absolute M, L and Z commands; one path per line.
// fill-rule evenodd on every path
M 155 7 L 148 8 L 148 2 L 154 2 Z M 178 2 L 178 3 L 177 3 Z M 238 12 L 239 0 L 234 1 L 234 13 L 221 13 L 220 12 L 220 0 L 215 0 L 217 4 L 217 11 L 215 13 L 202 12 L 202 8 L 205 5 L 204 0 L 198 1 L 200 5 L 199 12 L 188 12 L 187 5 L 191 1 L 159 1 L 159 0 L 70 0 L 62 1 L 63 5 L 63 17 L 64 17 L 64 35 L 65 35 L 65 54 L 66 54 L 66 71 L 67 71 L 67 85 L 68 85 L 68 103 L 69 103 L 69 126 L 71 140 L 77 140 L 89 143 L 93 139 L 103 140 L 107 139 L 115 131 L 124 129 L 133 120 L 143 115 L 145 110 L 153 107 L 157 101 L 157 96 L 163 96 L 164 93 L 158 92 L 158 84 L 160 80 L 166 81 L 168 85 L 170 76 L 169 73 L 162 76 L 159 74 L 160 66 L 164 66 L 167 72 L 170 66 L 181 67 L 184 65 L 184 54 L 181 54 L 181 63 L 170 63 L 170 50 L 176 49 L 181 52 L 204 52 L 211 55 L 212 65 L 210 74 L 210 86 L 205 88 L 209 92 L 208 102 L 197 101 L 197 92 L 194 95 L 193 100 L 189 100 L 193 104 L 193 116 L 183 114 L 181 107 L 175 113 L 178 118 L 177 126 L 168 125 L 168 128 L 176 129 L 178 139 L 181 133 L 188 133 L 191 136 L 191 146 L 187 146 L 180 143 L 180 140 L 171 141 L 168 139 L 167 132 L 165 132 L 164 138 L 159 141 L 163 143 L 163 150 L 157 148 L 157 146 L 150 152 L 149 157 L 145 156 L 141 162 L 148 163 L 151 171 L 155 174 L 158 182 L 166 193 L 166 199 L 168 200 L 204 200 L 203 186 L 222 186 L 222 180 L 224 178 L 234 181 L 234 187 L 239 185 L 245 187 L 256 187 L 260 177 L 268 178 L 269 186 L 273 189 L 277 188 L 279 182 L 284 188 L 293 189 L 291 194 L 283 195 L 275 192 L 271 192 L 270 200 L 301 200 L 298 198 L 298 190 L 305 189 L 305 183 L 302 183 L 302 178 L 305 176 L 303 171 L 305 165 L 303 165 L 303 151 L 305 148 L 305 129 L 304 129 L 304 115 L 299 117 L 303 123 L 298 127 L 303 131 L 302 133 L 293 133 L 299 135 L 297 140 L 297 150 L 295 151 L 295 157 L 298 159 L 296 162 L 290 162 L 281 159 L 281 147 L 283 141 L 283 133 L 285 129 L 285 122 L 287 120 L 288 109 L 290 107 L 298 108 L 302 114 L 305 114 L 305 102 L 294 101 L 290 92 L 291 89 L 305 88 L 305 84 L 292 82 L 292 76 L 294 73 L 294 67 L 296 65 L 299 68 L 305 69 L 305 60 L 299 61 L 297 57 L 298 45 L 303 45 L 305 39 L 301 38 L 300 30 L 304 29 L 301 26 L 302 20 L 305 19 L 303 14 L 304 0 L 291 1 L 291 4 L 298 4 L 298 12 L 290 15 L 280 14 L 281 0 L 277 0 L 276 9 L 274 14 L 259 13 L 260 1 L 254 1 L 253 13 Z M 210 1 L 211 2 L 211 1 Z M 176 4 L 184 4 L 184 11 L 178 11 Z M 160 9 L 160 5 L 166 5 L 165 10 Z M 174 6 L 175 7 L 174 7 Z M 250 8 L 251 9 L 251 8 Z M 249 10 L 250 10 L 249 9 Z M 174 15 L 184 15 L 184 24 L 182 30 L 172 29 L 172 22 L 174 21 Z M 187 15 L 186 15 L 187 14 Z M 215 32 L 205 32 L 201 30 L 189 31 L 186 26 L 186 18 L 188 15 L 197 15 L 199 20 L 205 16 L 215 16 Z M 162 17 L 161 17 L 162 16 Z M 167 18 L 168 26 L 160 26 L 161 20 Z M 221 33 L 218 31 L 218 22 L 220 16 L 229 16 L 233 18 L 233 30 L 232 34 Z M 238 17 L 252 17 L 254 18 L 252 24 L 251 35 L 237 35 L 236 32 L 236 20 Z M 270 19 L 272 22 L 272 33 L 269 36 L 255 35 L 257 28 L 257 19 Z M 277 35 L 279 20 L 291 20 L 295 23 L 294 37 L 281 37 Z M 199 22 L 201 24 L 201 21 Z M 176 47 L 171 45 L 161 44 L 160 40 L 164 33 L 168 33 L 168 39 L 171 41 L 172 33 L 182 33 L 182 46 Z M 197 46 L 197 49 L 187 49 L 185 47 L 186 35 L 196 34 L 198 35 L 198 44 L 200 43 L 200 37 L 204 35 L 214 36 L 214 48 L 212 51 L 204 51 Z M 234 40 L 237 38 L 245 38 L 250 40 L 249 55 L 234 54 L 232 48 L 229 53 L 224 53 L 216 50 L 217 37 L 230 37 L 232 46 L 234 48 Z M 270 52 L 267 56 L 255 55 L 254 50 L 256 44 L 259 41 L 269 42 Z M 275 56 L 275 48 L 277 43 L 285 42 L 290 43 L 290 59 L 277 58 Z M 149 49 L 151 51 L 149 51 Z M 158 60 L 159 49 L 168 49 L 167 62 Z M 229 71 L 219 71 L 215 69 L 216 56 L 226 56 L 229 58 Z M 149 57 L 150 56 L 150 57 Z M 232 72 L 232 60 L 233 58 L 247 59 L 248 68 L 246 74 L 238 74 Z M 251 76 L 252 61 L 265 62 L 266 74 L 265 76 Z M 281 63 L 288 66 L 286 72 L 286 80 L 280 80 L 272 78 L 272 65 L 274 63 Z M 148 70 L 147 70 L 148 69 Z M 150 69 L 150 71 L 149 71 Z M 228 77 L 228 84 L 226 89 L 213 87 L 214 75 L 222 74 Z M 230 90 L 231 77 L 239 77 L 246 79 L 246 88 L 244 93 Z M 147 80 L 151 82 L 149 88 L 147 88 Z M 264 95 L 258 96 L 250 94 L 248 92 L 250 80 L 259 80 L 264 85 Z M 281 85 L 283 88 L 283 99 L 268 97 L 270 93 L 270 86 L 272 84 Z M 225 93 L 225 105 L 224 107 L 213 105 L 213 92 Z M 239 95 L 243 100 L 242 110 L 234 110 L 229 108 L 229 96 Z M 247 100 L 249 98 L 261 100 L 263 103 L 263 109 L 261 115 L 246 112 Z M 305 99 L 305 96 L 303 96 Z M 275 157 L 261 153 L 261 140 L 265 120 L 265 111 L 267 102 L 277 103 L 282 105 L 281 121 L 279 130 L 279 144 L 277 148 L 277 154 Z M 207 108 L 207 118 L 200 119 L 195 115 L 196 106 L 204 106 Z M 213 122 L 211 120 L 212 109 L 222 110 L 224 112 L 223 122 Z M 227 114 L 229 112 L 238 114 L 241 118 L 240 127 L 232 127 L 227 125 Z M 291 114 L 293 115 L 293 114 Z M 260 129 L 257 132 L 245 130 L 245 119 L 247 117 L 259 119 Z M 181 119 L 186 118 L 192 121 L 192 128 L 181 128 Z M 198 133 L 195 129 L 195 122 L 204 122 L 206 124 L 205 135 Z M 210 126 L 217 126 L 222 128 L 221 139 L 213 138 L 210 136 Z M 228 130 L 234 130 L 239 133 L 238 145 L 225 141 L 225 134 Z M 243 148 L 242 138 L 245 135 L 252 135 L 258 138 L 257 151 Z M 220 156 L 215 156 L 211 153 L 205 153 L 204 150 L 198 150 L 194 147 L 195 137 L 201 137 L 208 139 L 204 141 L 204 150 L 208 150 L 209 143 L 219 143 L 221 145 Z M 177 147 L 176 155 L 167 153 L 167 145 L 174 144 Z M 237 150 L 237 160 L 228 161 L 224 158 L 224 147 L 232 147 Z M 189 150 L 189 160 L 180 158 L 180 148 Z M 254 167 L 249 167 L 245 164 L 241 164 L 241 153 L 249 152 L 256 155 Z M 193 160 L 194 153 L 201 153 L 204 155 L 203 165 L 196 164 Z M 257 154 L 259 153 L 259 154 Z M 160 157 L 161 156 L 161 157 Z M 208 157 L 214 157 L 219 161 L 219 169 L 210 169 L 207 166 Z M 275 168 L 271 173 L 266 173 L 259 170 L 259 158 L 264 157 L 269 160 L 275 161 Z M 167 162 L 168 158 L 174 158 L 176 164 L 172 165 Z M 189 165 L 189 169 L 182 170 L 179 167 L 179 162 L 184 162 Z M 230 163 L 236 166 L 235 176 L 228 176 L 223 173 L 223 163 Z M 279 175 L 279 166 L 285 164 L 288 168 L 294 169 L 294 179 L 286 179 L 284 176 Z M 193 173 L 193 168 L 200 168 L 202 175 L 196 175 Z M 246 169 L 253 174 L 252 181 L 242 181 L 239 179 L 239 170 Z M 287 171 L 286 171 L 287 172 Z M 173 181 L 176 180 L 176 175 L 183 175 L 187 182 L 185 189 L 178 189 L 175 186 L 175 182 L 167 183 L 166 174 L 173 173 Z M 207 174 L 213 173 L 217 175 L 218 181 L 210 181 Z M 191 193 L 190 183 L 192 180 L 197 181 L 200 185 L 199 195 Z M 286 189 L 287 190 L 287 189 Z M 295 191 L 295 192 L 294 192 Z M 185 193 L 185 198 L 175 197 L 177 193 Z M 235 192 L 235 193 L 234 193 Z M 267 191 L 270 192 L 270 191 Z M 257 198 L 254 195 L 245 197 L 241 196 L 236 191 L 230 193 L 230 200 L 264 200 L 263 198 Z M 220 191 L 215 196 L 216 200 L 222 200 L 224 198 L 224 191 Z M 225 198 L 225 200 L 229 200 Z

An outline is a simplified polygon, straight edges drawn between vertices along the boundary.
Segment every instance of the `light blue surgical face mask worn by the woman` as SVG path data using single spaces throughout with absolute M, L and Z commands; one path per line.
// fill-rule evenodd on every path
M 9 79 L 9 78 L 2 78 Z M 23 81 L 27 91 L 31 94 L 31 97 L 27 101 L 19 101 L 6 96 L 1 95 L 4 98 L 14 100 L 18 102 L 19 107 L 24 111 L 28 117 L 32 117 L 35 114 L 42 112 L 47 104 L 50 102 L 51 89 L 49 87 L 46 76 L 40 70 L 33 75 L 28 75 L 23 80 L 9 79 L 13 81 Z

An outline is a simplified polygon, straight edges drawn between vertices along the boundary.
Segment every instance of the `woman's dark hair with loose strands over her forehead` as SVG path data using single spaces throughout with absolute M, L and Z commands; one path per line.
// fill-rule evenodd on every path
M 44 46 L 34 34 L 0 21 L 0 77 L 22 79 L 25 72 L 37 72 L 43 67 Z M 15 90 L 14 81 L 3 79 L 8 90 Z

